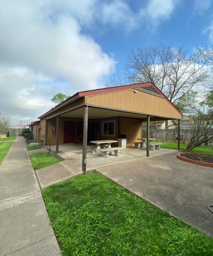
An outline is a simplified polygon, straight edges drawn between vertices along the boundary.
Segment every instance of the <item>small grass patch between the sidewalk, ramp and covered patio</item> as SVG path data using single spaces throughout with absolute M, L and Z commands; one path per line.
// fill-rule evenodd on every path
M 50 166 L 54 163 L 59 163 L 60 160 L 54 155 L 50 154 L 48 157 L 48 153 L 34 153 L 30 154 L 30 159 L 32 162 L 32 166 L 34 170 L 41 169 L 46 166 Z

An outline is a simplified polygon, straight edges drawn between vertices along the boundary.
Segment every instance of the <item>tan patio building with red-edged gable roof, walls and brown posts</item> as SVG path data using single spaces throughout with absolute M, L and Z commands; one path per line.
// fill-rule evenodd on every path
M 45 140 L 52 138 L 56 153 L 60 153 L 61 145 L 82 143 L 79 151 L 81 169 L 86 172 L 86 165 L 90 164 L 87 154 L 90 141 L 118 140 L 125 134 L 127 147 L 132 146 L 132 142 L 142 136 L 141 123 L 144 121 L 147 122 L 147 141 L 150 139 L 150 121 L 177 119 L 179 134 L 181 116 L 154 84 L 130 84 L 76 93 L 39 117 L 40 134 L 45 135 Z M 112 143 L 114 146 L 118 144 Z M 150 156 L 149 143 L 146 156 Z M 115 159 L 113 157 L 113 161 Z

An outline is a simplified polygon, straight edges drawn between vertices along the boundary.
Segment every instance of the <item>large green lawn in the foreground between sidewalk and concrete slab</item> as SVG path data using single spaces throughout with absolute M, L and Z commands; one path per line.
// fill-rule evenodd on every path
M 97 173 L 43 191 L 64 256 L 213 255 L 213 239 Z

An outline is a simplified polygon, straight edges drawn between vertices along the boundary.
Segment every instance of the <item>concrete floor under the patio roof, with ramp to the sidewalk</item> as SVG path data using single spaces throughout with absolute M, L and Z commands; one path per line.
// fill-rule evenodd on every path
M 83 143 L 69 143 L 65 145 L 59 145 L 58 153 L 55 153 L 55 146 L 53 153 L 60 158 L 62 161 L 56 163 L 53 166 L 47 166 L 36 171 L 40 186 L 42 189 L 55 184 L 59 181 L 66 180 L 70 177 L 82 174 L 82 150 Z M 29 151 L 30 154 L 39 151 L 46 151 L 46 149 L 38 149 Z M 165 156 L 167 154 L 177 154 L 176 150 L 161 148 L 160 150 L 150 151 L 150 157 Z M 146 150 L 135 148 L 134 146 L 127 146 L 120 151 L 120 156 L 110 155 L 107 159 L 103 156 L 91 154 L 90 150 L 87 150 L 87 168 L 86 172 L 94 172 L 97 169 L 104 167 L 119 168 L 119 164 L 126 164 L 127 166 L 131 163 L 139 164 L 143 158 L 147 158 Z M 153 166 L 154 166 L 153 162 Z M 161 168 L 161 166 L 159 166 Z M 141 170 L 144 166 L 140 167 Z

